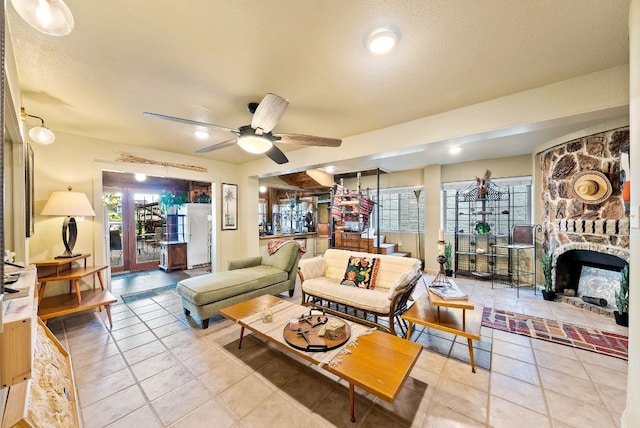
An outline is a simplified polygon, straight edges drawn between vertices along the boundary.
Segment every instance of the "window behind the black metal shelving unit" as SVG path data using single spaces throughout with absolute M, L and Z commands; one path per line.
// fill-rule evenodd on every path
M 491 180 L 499 187 L 511 190 L 512 224 L 532 224 L 531 177 L 508 177 Z M 465 190 L 475 181 L 456 181 L 442 183 L 442 217 L 444 230 L 454 233 L 456 223 L 456 191 Z M 503 231 L 508 233 L 507 231 Z

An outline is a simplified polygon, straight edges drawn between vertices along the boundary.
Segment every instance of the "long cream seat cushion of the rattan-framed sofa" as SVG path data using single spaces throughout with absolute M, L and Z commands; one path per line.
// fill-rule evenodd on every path
M 387 290 L 345 287 L 340 282 L 327 277 L 305 279 L 302 283 L 302 290 L 312 296 L 356 307 L 364 311 L 387 313 L 391 309 L 391 301 L 387 298 Z

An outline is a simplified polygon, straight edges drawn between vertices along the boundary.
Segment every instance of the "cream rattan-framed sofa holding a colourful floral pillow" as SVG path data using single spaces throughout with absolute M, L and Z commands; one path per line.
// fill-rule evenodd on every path
M 341 284 L 350 256 L 379 259 L 373 289 Z M 302 304 L 396 334 L 396 318 L 407 309 L 422 276 L 420 268 L 420 260 L 409 257 L 329 249 L 322 256 L 299 262 Z

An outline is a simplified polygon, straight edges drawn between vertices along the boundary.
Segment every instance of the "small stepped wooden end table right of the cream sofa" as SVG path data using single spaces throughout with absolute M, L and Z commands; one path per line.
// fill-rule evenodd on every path
M 428 291 L 402 314 L 402 319 L 409 323 L 406 338 L 411 338 L 413 324 L 466 337 L 471 371 L 475 373 L 473 340 L 480 340 L 483 309 L 483 305 L 470 302 L 468 299 L 443 299 Z

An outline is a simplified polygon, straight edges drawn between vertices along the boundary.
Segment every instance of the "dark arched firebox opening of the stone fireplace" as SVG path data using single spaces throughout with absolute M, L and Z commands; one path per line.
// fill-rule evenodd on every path
M 603 298 L 608 308 L 614 308 L 620 271 L 626 263 L 617 256 L 597 251 L 569 250 L 557 258 L 555 290 L 563 293 L 572 289 L 579 297 Z

